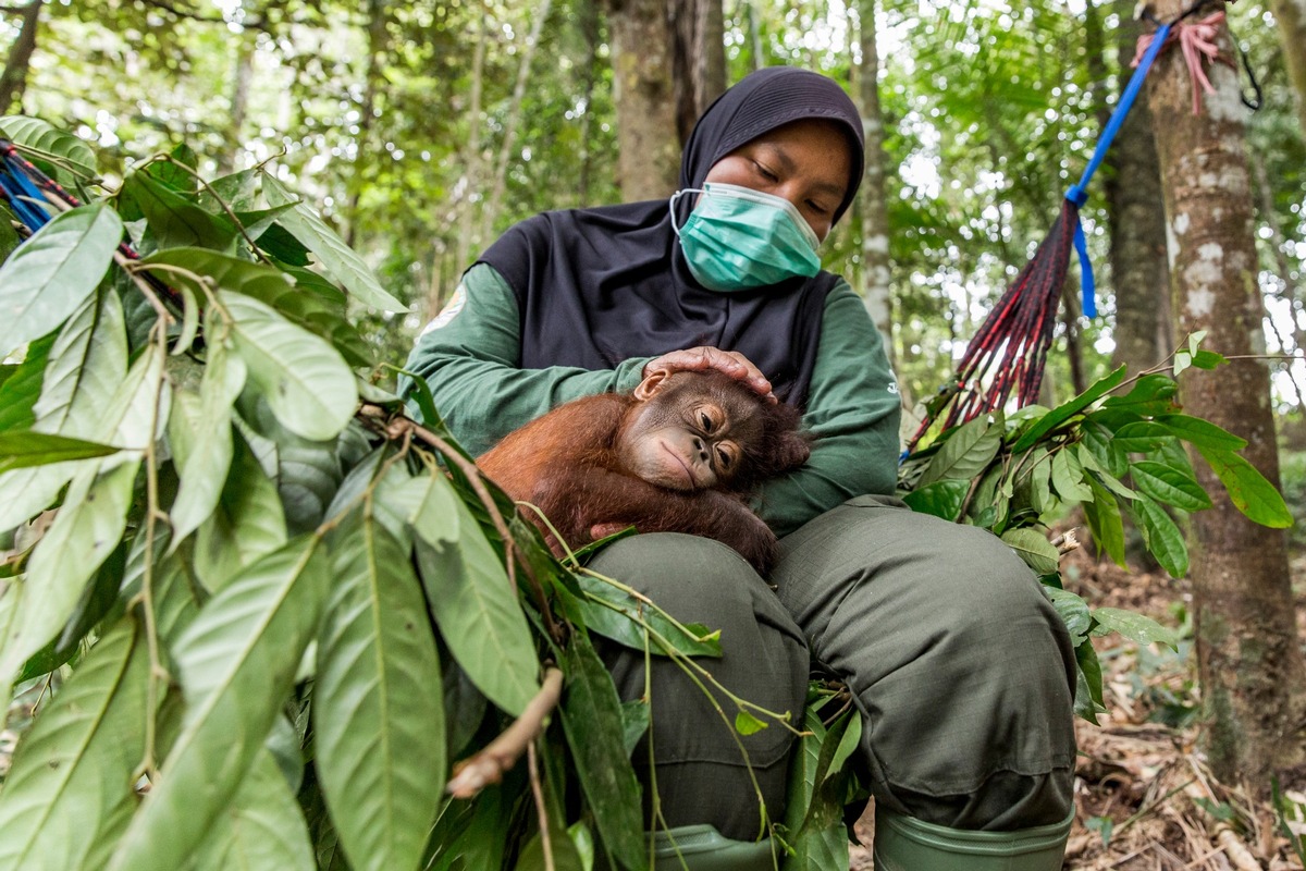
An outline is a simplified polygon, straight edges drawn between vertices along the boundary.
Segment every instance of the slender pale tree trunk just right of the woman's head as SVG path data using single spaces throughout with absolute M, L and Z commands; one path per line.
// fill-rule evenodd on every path
M 858 97 L 862 129 L 866 132 L 866 172 L 858 195 L 862 217 L 862 299 L 884 337 L 884 350 L 893 363 L 893 286 L 889 261 L 889 213 L 885 198 L 884 116 L 880 112 L 880 52 L 875 34 L 875 0 L 858 3 L 862 68 Z

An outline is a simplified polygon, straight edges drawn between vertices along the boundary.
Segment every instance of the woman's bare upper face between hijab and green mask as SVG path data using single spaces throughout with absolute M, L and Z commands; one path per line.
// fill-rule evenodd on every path
M 708 170 L 705 182 L 738 184 L 789 200 L 824 242 L 852 168 L 848 136 L 838 124 L 806 118 L 730 151 Z

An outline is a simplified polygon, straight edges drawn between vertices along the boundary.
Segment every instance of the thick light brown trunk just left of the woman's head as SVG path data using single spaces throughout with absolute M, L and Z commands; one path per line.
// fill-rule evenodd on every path
M 680 149 L 665 0 L 606 0 L 616 104 L 618 182 L 626 201 L 677 187 Z

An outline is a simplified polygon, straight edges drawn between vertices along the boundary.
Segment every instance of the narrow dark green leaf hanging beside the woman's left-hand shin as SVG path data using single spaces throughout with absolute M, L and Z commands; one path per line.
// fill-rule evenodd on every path
M 620 700 L 613 676 L 584 633 L 567 645 L 563 731 L 599 837 L 632 871 L 648 867 L 640 786 L 626 752 Z

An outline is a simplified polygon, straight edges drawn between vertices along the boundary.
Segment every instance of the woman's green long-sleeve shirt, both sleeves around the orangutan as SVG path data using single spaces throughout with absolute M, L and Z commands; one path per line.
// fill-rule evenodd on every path
M 556 405 L 633 389 L 650 359 L 598 371 L 518 368 L 516 298 L 492 266 L 479 264 L 462 277 L 451 308 L 418 338 L 407 368 L 427 381 L 444 422 L 475 456 Z M 899 417 L 897 383 L 880 334 L 862 300 L 840 282 L 825 299 L 803 413 L 803 427 L 815 436 L 811 458 L 768 482 L 756 504 L 761 517 L 785 535 L 852 496 L 892 494 Z

